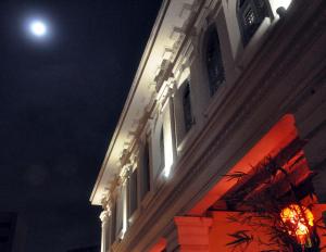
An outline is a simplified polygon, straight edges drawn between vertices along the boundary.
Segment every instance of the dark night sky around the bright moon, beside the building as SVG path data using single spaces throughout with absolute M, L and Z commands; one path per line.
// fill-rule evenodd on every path
M 0 211 L 26 223 L 26 252 L 100 244 L 89 197 L 161 2 L 0 1 Z

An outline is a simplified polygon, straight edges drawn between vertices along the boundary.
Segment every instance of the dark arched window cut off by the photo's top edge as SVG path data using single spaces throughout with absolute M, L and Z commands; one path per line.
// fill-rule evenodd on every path
M 242 41 L 247 45 L 263 20 L 271 15 L 271 7 L 266 0 L 238 0 L 237 5 Z

